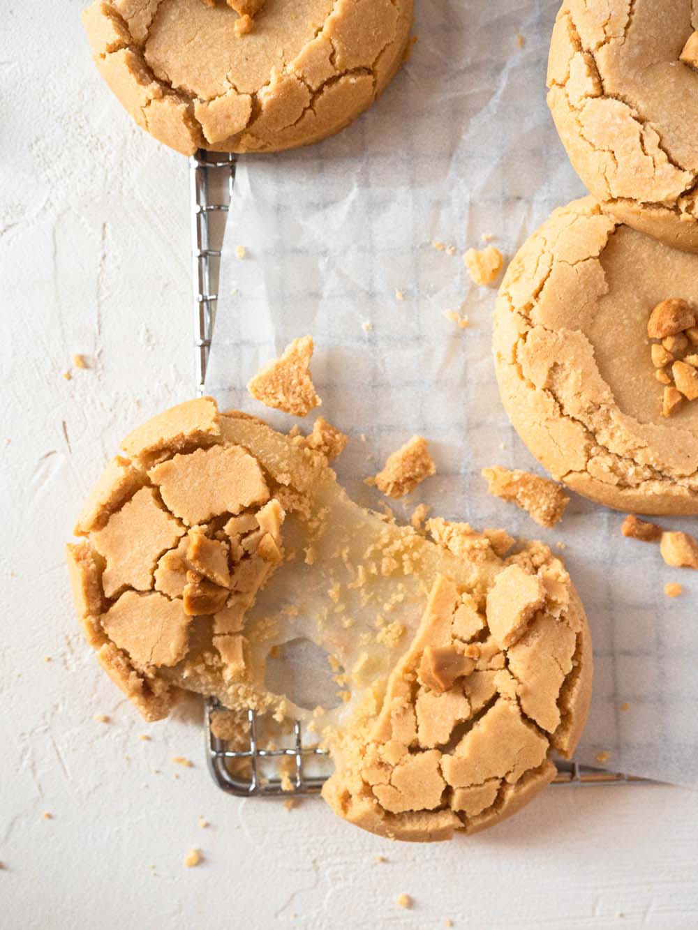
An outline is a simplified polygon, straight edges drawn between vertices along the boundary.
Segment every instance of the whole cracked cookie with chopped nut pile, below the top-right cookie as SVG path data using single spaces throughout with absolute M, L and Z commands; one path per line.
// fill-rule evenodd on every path
M 509 418 L 558 481 L 618 510 L 698 513 L 697 319 L 698 256 L 592 197 L 530 236 L 500 288 L 495 366 Z

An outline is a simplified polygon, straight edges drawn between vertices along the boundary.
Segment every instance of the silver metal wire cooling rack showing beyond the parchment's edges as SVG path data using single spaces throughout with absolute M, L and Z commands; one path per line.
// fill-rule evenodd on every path
M 190 159 L 192 207 L 192 261 L 194 283 L 194 344 L 196 392 L 205 392 L 208 353 L 218 305 L 221 247 L 237 158 L 232 153 L 200 149 Z M 265 749 L 261 722 L 248 711 L 248 745 L 233 749 L 216 737 L 211 727 L 215 711 L 224 710 L 209 699 L 206 708 L 208 769 L 218 787 L 237 797 L 289 797 L 316 794 L 329 775 L 325 751 L 303 742 L 302 726 L 293 724 L 289 746 Z M 591 768 L 574 760 L 555 760 L 554 785 L 630 785 L 645 778 Z

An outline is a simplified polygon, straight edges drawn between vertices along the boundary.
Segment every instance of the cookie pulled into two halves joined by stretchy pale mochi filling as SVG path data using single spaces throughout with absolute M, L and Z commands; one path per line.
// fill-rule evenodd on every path
M 182 689 L 229 708 L 229 736 L 249 709 L 300 720 L 336 765 L 325 799 L 358 826 L 482 829 L 576 745 L 582 606 L 541 543 L 507 554 L 500 530 L 358 507 L 321 427 L 287 436 L 200 398 L 132 432 L 68 546 L 87 640 L 148 720 Z

